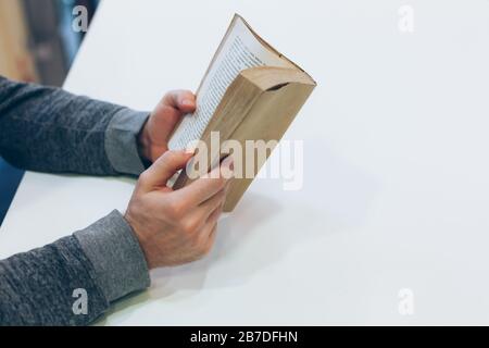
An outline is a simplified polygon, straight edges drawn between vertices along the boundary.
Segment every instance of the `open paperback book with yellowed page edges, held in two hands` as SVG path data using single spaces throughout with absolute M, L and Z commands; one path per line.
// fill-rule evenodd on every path
M 260 160 L 258 153 L 235 153 L 237 147 L 226 147 L 226 141 L 234 140 L 246 149 L 244 142 L 250 140 L 280 140 L 315 86 L 311 76 L 235 14 L 197 91 L 196 112 L 181 120 L 170 140 L 171 150 L 186 149 L 196 140 L 204 145 L 203 149 L 197 147 L 195 161 L 199 163 L 187 166 L 173 187 L 188 185 L 198 177 L 197 171 L 208 172 L 233 154 L 235 172 L 254 175 L 233 179 L 224 207 L 226 212 L 231 211 L 271 151 Z M 250 157 L 251 162 L 246 160 Z

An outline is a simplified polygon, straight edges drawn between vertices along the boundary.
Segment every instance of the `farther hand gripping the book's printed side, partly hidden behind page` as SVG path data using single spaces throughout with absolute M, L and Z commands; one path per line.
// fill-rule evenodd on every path
M 156 161 L 168 150 L 170 137 L 183 115 L 196 111 L 196 96 L 188 90 L 166 94 L 139 134 L 141 156 L 149 162 Z

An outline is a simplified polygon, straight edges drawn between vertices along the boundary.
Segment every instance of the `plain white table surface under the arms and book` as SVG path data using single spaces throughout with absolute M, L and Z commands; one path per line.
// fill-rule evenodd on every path
M 489 324 L 489 1 L 106 0 L 65 87 L 151 109 L 197 88 L 235 11 L 318 82 L 286 135 L 303 189 L 255 182 L 209 258 L 152 272 L 101 323 Z M 0 258 L 124 210 L 133 187 L 27 173 Z

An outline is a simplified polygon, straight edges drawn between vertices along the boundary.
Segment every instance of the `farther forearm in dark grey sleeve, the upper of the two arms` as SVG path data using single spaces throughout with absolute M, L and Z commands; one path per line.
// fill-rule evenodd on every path
M 148 113 L 0 77 L 0 156 L 26 170 L 142 172 L 137 135 Z

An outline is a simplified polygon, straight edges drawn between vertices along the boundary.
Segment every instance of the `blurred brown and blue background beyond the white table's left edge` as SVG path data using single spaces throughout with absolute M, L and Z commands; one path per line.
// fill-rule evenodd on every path
M 0 0 L 0 75 L 62 86 L 86 33 L 76 32 L 73 10 L 83 5 L 88 24 L 99 0 Z M 23 172 L 0 158 L 0 225 Z

